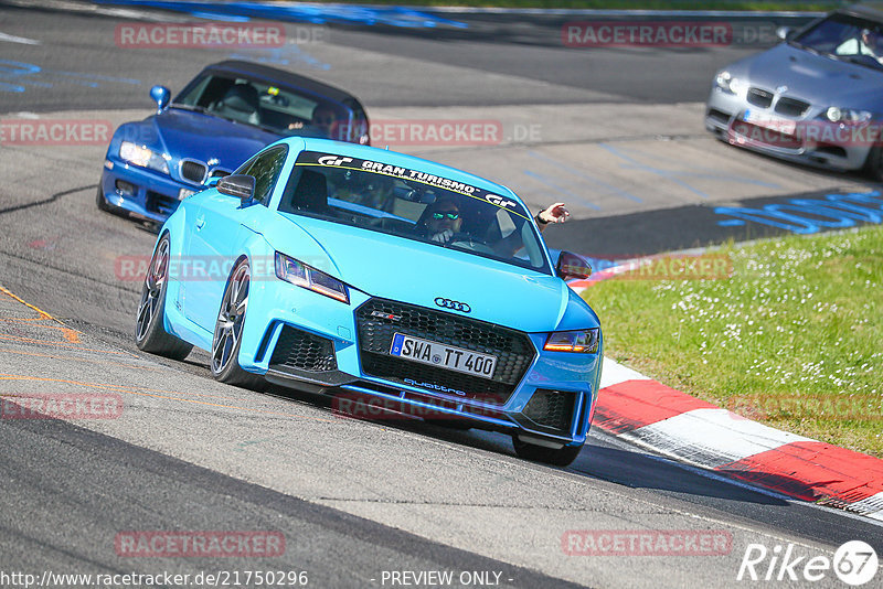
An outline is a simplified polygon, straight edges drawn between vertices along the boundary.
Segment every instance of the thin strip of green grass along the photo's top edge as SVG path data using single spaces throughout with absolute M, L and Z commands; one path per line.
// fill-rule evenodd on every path
M 849 6 L 851 1 L 821 0 L 804 2 L 800 0 L 344 0 L 351 3 L 394 4 L 419 7 L 503 7 L 543 9 L 618 9 L 618 10 L 794 10 L 828 11 Z

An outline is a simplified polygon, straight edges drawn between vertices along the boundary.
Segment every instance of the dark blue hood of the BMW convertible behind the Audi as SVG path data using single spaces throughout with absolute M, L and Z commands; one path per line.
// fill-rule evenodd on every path
M 251 125 L 174 108 L 147 120 L 156 132 L 159 147 L 172 158 L 192 158 L 202 162 L 217 160 L 216 165 L 227 170 L 235 170 L 251 156 L 279 139 L 278 135 Z

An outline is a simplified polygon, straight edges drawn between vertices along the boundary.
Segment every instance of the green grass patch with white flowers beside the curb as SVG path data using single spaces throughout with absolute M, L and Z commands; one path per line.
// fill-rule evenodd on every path
M 883 458 L 883 227 L 715 250 L 723 280 L 614 279 L 605 354 L 769 426 Z

